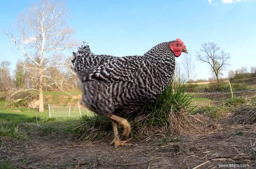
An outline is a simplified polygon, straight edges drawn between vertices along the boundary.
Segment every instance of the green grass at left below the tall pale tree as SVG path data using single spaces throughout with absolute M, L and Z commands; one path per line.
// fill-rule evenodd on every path
M 39 112 L 38 121 L 36 121 L 35 110 L 31 112 L 27 112 L 24 109 L 17 110 L 20 110 L 20 112 L 14 112 L 13 110 L 0 112 L 0 136 L 27 140 L 30 133 L 36 133 L 39 136 L 70 135 L 72 133 L 75 134 L 73 129 L 78 126 L 76 120 L 54 121 L 52 118 L 49 118 L 45 122 L 46 113 Z

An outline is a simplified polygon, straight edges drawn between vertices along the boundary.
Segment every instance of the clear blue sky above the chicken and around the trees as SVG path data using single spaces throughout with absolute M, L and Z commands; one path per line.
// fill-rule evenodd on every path
M 0 5 L 0 62 L 15 69 L 23 55 L 4 34 L 28 4 L 37 1 L 2 1 Z M 180 38 L 189 51 L 197 78 L 211 76 L 208 65 L 196 60 L 203 42 L 214 42 L 230 53 L 230 69 L 256 66 L 256 0 L 68 0 L 68 25 L 75 39 L 88 42 L 95 54 L 143 55 L 158 43 Z M 76 49 L 75 49 L 76 51 Z M 71 55 L 72 51 L 70 51 Z M 176 58 L 182 62 L 182 56 Z M 182 70 L 182 67 L 180 68 Z

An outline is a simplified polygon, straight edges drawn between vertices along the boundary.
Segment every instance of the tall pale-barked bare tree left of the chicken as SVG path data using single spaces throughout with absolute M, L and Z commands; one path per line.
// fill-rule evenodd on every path
M 37 79 L 40 112 L 44 111 L 43 88 L 58 84 L 47 76 L 47 70 L 63 66 L 64 58 L 58 53 L 75 45 L 73 30 L 65 23 L 68 17 L 64 2 L 42 0 L 21 13 L 8 34 L 17 49 L 32 62 L 31 67 L 23 67 L 36 70 L 37 74 L 33 78 Z M 45 83 L 46 78 L 51 79 L 52 83 Z

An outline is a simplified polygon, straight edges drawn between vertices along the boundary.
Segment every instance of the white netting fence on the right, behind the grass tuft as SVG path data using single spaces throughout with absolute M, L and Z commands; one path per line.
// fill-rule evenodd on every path
M 256 77 L 187 88 L 186 92 L 192 97 L 192 105 L 218 105 L 232 97 L 248 98 L 256 95 Z

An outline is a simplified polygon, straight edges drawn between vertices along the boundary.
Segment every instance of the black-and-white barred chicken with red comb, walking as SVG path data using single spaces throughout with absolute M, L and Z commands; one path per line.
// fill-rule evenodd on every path
M 119 139 L 117 124 L 128 137 L 130 123 L 122 116 L 152 103 L 170 84 L 175 57 L 188 53 L 180 39 L 160 43 L 143 56 L 94 55 L 84 43 L 73 52 L 73 68 L 82 82 L 82 104 L 111 119 L 114 139 L 110 144 L 132 146 Z

